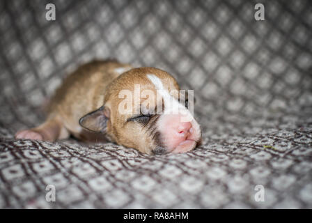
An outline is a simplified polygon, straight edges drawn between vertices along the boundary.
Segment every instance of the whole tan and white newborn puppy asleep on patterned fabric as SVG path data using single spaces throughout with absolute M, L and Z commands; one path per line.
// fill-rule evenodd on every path
M 49 102 L 45 123 L 15 137 L 55 141 L 72 134 L 85 141 L 109 139 L 148 154 L 192 151 L 201 128 L 178 102 L 179 90 L 164 70 L 93 61 L 64 80 Z

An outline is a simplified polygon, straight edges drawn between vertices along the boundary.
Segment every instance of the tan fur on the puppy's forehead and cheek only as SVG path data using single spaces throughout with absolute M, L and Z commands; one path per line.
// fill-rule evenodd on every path
M 111 82 L 104 98 L 104 104 L 108 105 L 109 109 L 112 110 L 111 118 L 109 119 L 109 123 L 107 125 L 108 134 L 118 144 L 137 148 L 143 153 L 150 153 L 150 148 L 153 148 L 153 141 L 149 132 L 145 132 L 143 130 L 140 131 L 140 128 L 137 128 L 137 125 L 139 125 L 137 123 L 125 124 L 125 121 L 127 118 L 130 118 L 130 116 L 134 113 L 134 110 L 130 114 L 120 115 L 118 114 L 117 109 L 119 103 L 123 100 L 118 98 L 119 91 L 121 89 L 128 89 L 134 93 L 134 84 L 141 85 L 141 92 L 144 89 L 150 89 L 153 90 L 156 95 L 155 86 L 146 78 L 147 74 L 157 75 L 157 77 L 162 79 L 164 82 L 164 87 L 169 89 L 169 91 L 172 89 L 179 89 L 176 79 L 171 77 L 171 75 L 164 70 L 159 70 L 157 68 L 134 68 Z M 146 100 L 146 98 L 141 98 L 141 101 L 142 100 Z M 134 105 L 134 103 L 132 105 Z M 128 125 L 127 128 L 124 128 L 124 125 Z M 131 137 L 129 137 L 130 135 Z M 146 149 L 148 149 L 148 151 L 146 151 Z

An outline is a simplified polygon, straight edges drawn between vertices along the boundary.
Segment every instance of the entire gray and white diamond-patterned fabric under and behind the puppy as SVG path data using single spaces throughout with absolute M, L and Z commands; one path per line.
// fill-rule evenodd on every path
M 0 40 L 1 208 L 312 208 L 311 1 L 0 1 Z M 150 157 L 13 139 L 68 73 L 107 58 L 194 89 L 203 145 Z

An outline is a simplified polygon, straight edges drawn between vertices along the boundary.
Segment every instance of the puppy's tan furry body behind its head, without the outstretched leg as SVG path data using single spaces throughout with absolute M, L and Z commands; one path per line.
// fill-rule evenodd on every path
M 131 68 L 117 61 L 93 61 L 66 77 L 48 107 L 48 119 L 60 119 L 68 130 L 58 138 L 66 138 L 69 133 L 86 141 L 101 138 L 101 134 L 90 134 L 81 128 L 79 118 L 101 107 L 107 86 Z

